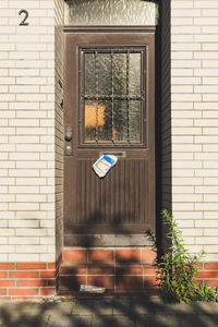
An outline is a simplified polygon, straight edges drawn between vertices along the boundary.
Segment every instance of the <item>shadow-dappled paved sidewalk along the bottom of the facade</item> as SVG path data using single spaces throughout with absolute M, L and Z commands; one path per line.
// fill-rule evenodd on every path
M 68 300 L 68 301 L 66 301 Z M 218 303 L 166 305 L 155 298 L 0 302 L 1 327 L 217 327 Z

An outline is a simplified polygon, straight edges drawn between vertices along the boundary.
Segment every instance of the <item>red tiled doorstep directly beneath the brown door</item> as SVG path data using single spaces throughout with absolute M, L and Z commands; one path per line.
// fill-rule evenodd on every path
M 150 249 L 65 249 L 59 293 L 75 293 L 82 283 L 105 287 L 106 294 L 154 293 L 156 271 L 156 252 Z

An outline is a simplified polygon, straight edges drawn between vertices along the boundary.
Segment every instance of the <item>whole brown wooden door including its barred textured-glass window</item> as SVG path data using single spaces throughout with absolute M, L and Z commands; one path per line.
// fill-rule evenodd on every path
M 65 35 L 65 240 L 155 230 L 154 76 L 152 33 Z M 118 156 L 104 179 L 101 154 Z

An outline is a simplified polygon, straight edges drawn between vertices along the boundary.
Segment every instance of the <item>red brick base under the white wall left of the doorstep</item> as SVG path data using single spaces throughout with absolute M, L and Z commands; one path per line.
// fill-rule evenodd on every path
M 53 295 L 55 275 L 55 263 L 0 263 L 0 300 Z

